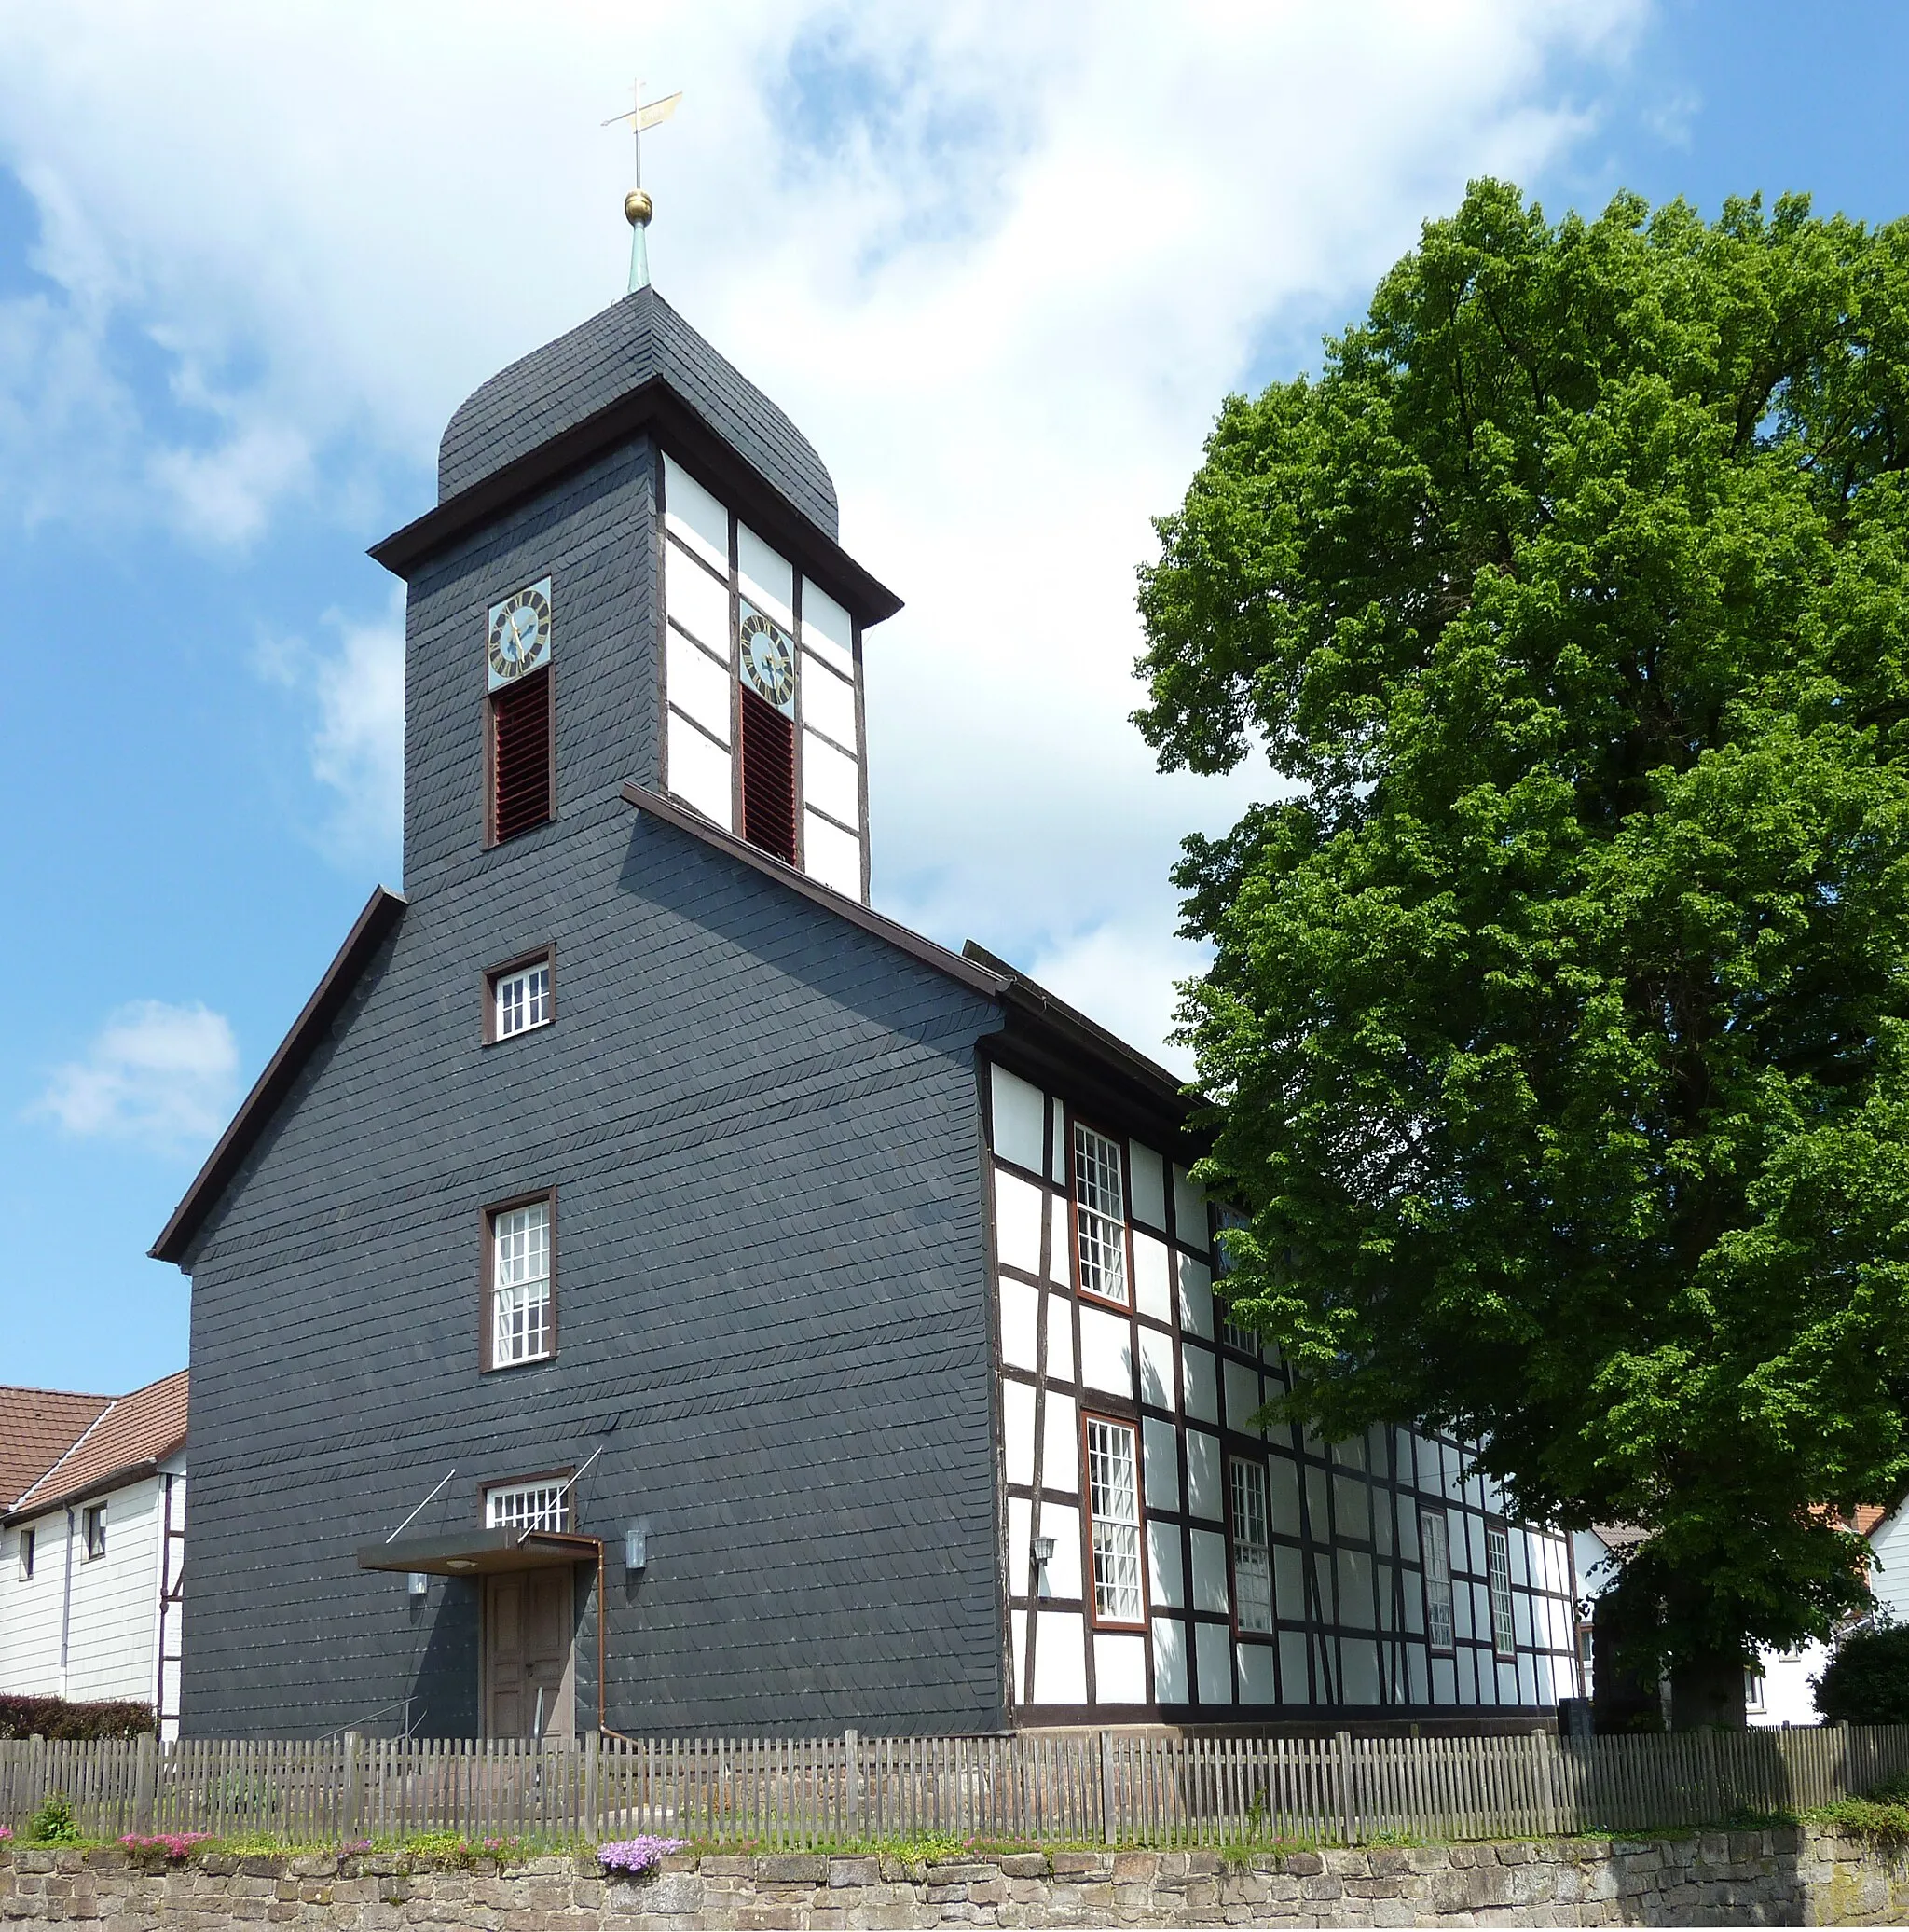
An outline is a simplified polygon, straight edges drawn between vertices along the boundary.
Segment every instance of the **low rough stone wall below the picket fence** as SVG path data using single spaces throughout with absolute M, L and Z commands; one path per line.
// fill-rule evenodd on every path
M 1909 1861 L 1816 1832 L 1213 1853 L 669 1859 L 607 1882 L 589 1859 L 456 1870 L 404 1855 L 201 1857 L 0 1847 L 0 1920 L 112 1932 L 696 1932 L 798 1926 L 1909 1924 Z

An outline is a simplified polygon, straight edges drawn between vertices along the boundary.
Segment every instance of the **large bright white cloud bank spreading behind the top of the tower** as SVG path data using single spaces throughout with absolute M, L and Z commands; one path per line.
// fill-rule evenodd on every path
M 1132 945 L 1140 1026 L 1181 970 L 1179 835 L 1264 781 L 1159 779 L 1126 724 L 1150 518 L 1269 340 L 1356 313 L 1467 176 L 1582 135 L 1644 10 L 0 8 L 0 155 L 50 282 L 0 307 L 0 475 L 197 541 L 348 522 L 342 560 L 381 477 L 412 479 L 390 524 L 423 508 L 462 394 L 620 292 L 599 122 L 632 71 L 682 87 L 645 143 L 657 284 L 813 437 L 908 599 L 869 641 L 877 898 L 1078 964 L 1084 1001 Z M 315 761 L 373 796 L 392 707 L 361 713 L 350 639 L 336 663 Z

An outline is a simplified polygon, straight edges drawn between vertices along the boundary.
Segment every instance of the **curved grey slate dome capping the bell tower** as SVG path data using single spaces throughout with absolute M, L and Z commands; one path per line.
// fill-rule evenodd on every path
M 667 379 L 806 518 L 839 535 L 835 485 L 815 446 L 653 288 L 624 296 L 473 390 L 439 444 L 439 502 L 651 377 Z

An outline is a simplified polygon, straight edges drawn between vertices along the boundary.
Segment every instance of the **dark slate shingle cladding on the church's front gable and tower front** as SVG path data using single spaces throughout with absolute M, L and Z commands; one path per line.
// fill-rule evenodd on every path
M 1005 1718 L 976 1090 L 1001 1010 L 622 804 L 659 777 L 651 489 L 636 439 L 413 574 L 412 904 L 187 1254 L 187 1735 L 388 1729 L 406 1696 L 413 1729 L 475 1731 L 477 1588 L 413 1605 L 354 1549 L 452 1464 L 413 1534 L 599 1443 L 576 1526 L 611 1540 L 613 1727 Z M 483 618 L 545 572 L 558 815 L 485 852 Z M 556 1024 L 483 1047 L 483 968 L 543 943 Z M 481 1208 L 551 1184 L 558 1354 L 483 1376 Z

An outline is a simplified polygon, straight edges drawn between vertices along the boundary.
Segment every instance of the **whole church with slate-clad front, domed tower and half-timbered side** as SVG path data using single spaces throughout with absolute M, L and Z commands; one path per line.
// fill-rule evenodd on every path
M 1179 1082 L 869 906 L 900 603 L 767 396 L 640 288 L 373 554 L 404 895 L 153 1250 L 189 1735 L 1552 1718 L 1569 1544 L 1262 1428 Z

